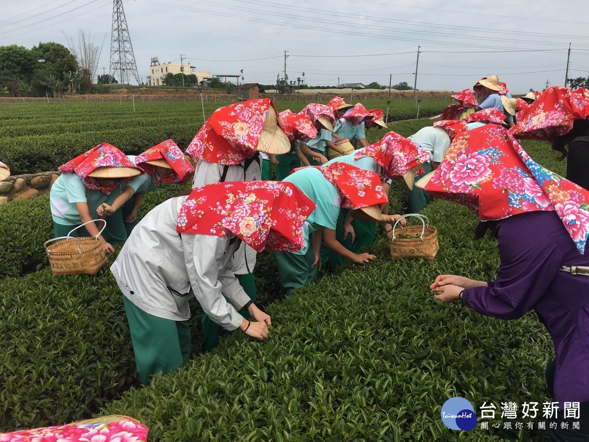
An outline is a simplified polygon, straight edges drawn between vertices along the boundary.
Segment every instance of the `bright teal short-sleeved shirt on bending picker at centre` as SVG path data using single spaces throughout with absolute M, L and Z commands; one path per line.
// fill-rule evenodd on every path
M 317 207 L 309 215 L 303 232 L 305 233 L 305 246 L 297 255 L 305 255 L 309 247 L 310 233 L 321 227 L 335 230 L 337 217 L 342 203 L 342 198 L 337 188 L 327 181 L 321 171 L 316 167 L 306 167 L 286 177 L 284 182 L 297 186 Z

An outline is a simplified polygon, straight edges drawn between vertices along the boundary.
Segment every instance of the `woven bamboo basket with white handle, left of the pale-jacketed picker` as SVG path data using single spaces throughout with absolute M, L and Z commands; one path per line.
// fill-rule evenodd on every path
M 71 230 L 68 236 L 45 241 L 45 252 L 49 257 L 49 265 L 51 265 L 53 275 L 95 275 L 108 262 L 107 255 L 102 249 L 100 239 L 98 239 L 104 227 L 97 236 L 78 238 L 71 236 L 74 230 L 85 224 L 87 223 Z M 106 226 L 106 222 L 104 222 L 104 226 Z M 48 245 L 51 242 L 53 243 Z

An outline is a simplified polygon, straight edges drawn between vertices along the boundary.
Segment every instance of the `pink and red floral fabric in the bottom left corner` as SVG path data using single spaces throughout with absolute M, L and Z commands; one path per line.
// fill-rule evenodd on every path
M 0 433 L 0 442 L 144 442 L 147 427 L 133 418 L 112 415 L 54 427 Z

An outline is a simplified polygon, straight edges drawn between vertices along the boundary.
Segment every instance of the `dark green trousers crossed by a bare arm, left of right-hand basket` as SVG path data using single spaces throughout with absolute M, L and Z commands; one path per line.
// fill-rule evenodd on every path
M 337 217 L 335 237 L 346 249 L 354 253 L 360 253 L 360 249 L 363 247 L 368 247 L 370 244 L 372 244 L 372 241 L 376 235 L 376 224 L 360 219 L 353 219 L 352 227 L 354 228 L 354 234 L 356 235 L 356 238 L 352 243 L 351 235 L 347 235 L 346 239 L 343 239 L 343 221 L 346 219 L 348 212 L 348 209 L 340 210 L 339 216 Z M 321 243 L 322 272 L 336 272 L 337 268 L 339 268 L 339 266 L 342 265 L 344 261 L 345 258 L 337 255 L 337 253 L 328 248 L 325 243 Z

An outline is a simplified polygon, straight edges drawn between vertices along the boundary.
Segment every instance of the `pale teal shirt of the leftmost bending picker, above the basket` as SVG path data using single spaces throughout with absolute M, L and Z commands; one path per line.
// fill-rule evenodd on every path
M 98 219 L 96 210 L 101 204 L 112 204 L 121 194 L 123 187 L 115 187 L 111 193 L 102 193 L 100 190 L 88 189 L 84 182 L 75 173 L 62 173 L 49 193 L 49 204 L 51 205 L 51 217 L 54 223 L 61 225 L 80 225 L 82 220 L 76 203 L 87 203 L 92 219 Z

